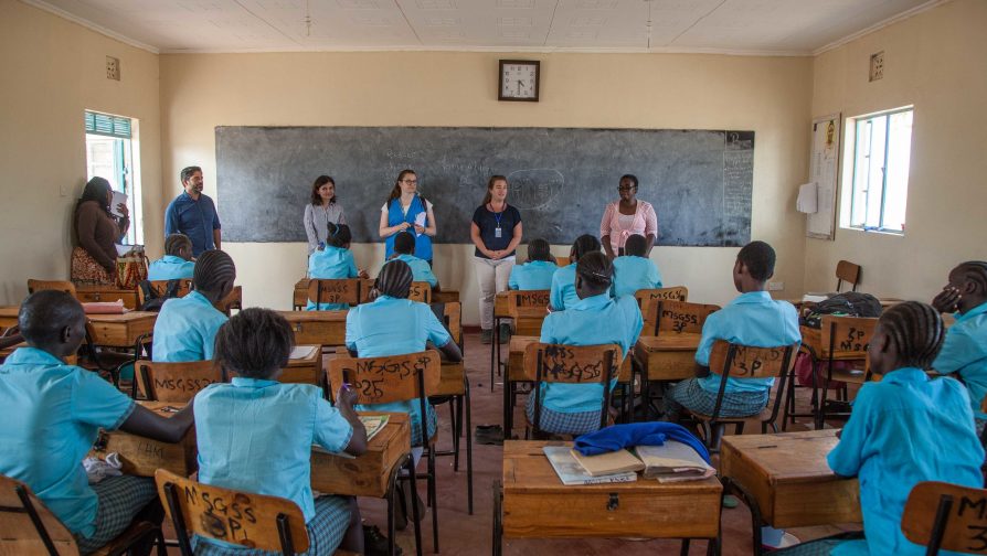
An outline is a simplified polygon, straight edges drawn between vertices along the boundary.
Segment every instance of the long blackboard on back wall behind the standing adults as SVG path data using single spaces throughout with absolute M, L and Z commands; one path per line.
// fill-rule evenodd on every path
M 217 127 L 216 186 L 224 242 L 304 242 L 311 183 L 332 175 L 358 243 L 379 242 L 381 205 L 401 170 L 435 204 L 437 243 L 470 243 L 469 223 L 492 174 L 524 237 L 570 244 L 599 235 L 622 174 L 655 206 L 659 245 L 737 246 L 751 237 L 754 132 L 731 130 Z

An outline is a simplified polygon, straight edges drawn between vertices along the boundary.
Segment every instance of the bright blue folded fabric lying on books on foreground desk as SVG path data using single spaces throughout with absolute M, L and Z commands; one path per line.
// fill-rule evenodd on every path
M 699 438 L 681 425 L 652 421 L 613 425 L 596 432 L 583 435 L 575 440 L 575 450 L 583 456 L 598 456 L 635 446 L 664 446 L 666 440 L 677 440 L 692 447 L 707 463 L 710 452 Z

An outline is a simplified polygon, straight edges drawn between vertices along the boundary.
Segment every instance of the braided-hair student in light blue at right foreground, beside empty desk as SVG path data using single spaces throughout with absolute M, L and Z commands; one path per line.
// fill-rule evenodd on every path
M 867 348 L 880 382 L 861 386 L 839 443 L 826 458 L 841 477 L 860 480 L 863 533 L 860 541 L 820 539 L 775 554 L 922 555 L 908 541 L 901 517 L 909 493 L 920 482 L 944 481 L 983 488 L 984 449 L 974 430 L 969 396 L 953 378 L 930 379 L 928 368 L 943 344 L 943 322 L 917 301 L 884 311 Z

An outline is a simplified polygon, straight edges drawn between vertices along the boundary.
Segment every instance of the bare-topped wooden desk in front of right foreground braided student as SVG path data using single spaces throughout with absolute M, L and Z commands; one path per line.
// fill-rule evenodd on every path
M 837 441 L 832 429 L 725 436 L 720 474 L 742 489 L 757 523 L 788 528 L 860 522 L 857 479 L 837 477 L 826 463 Z

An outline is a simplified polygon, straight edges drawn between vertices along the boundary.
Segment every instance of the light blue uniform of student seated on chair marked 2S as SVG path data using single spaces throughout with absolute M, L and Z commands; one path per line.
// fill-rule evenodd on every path
M 436 348 L 453 338 L 425 303 L 381 296 L 372 303 L 363 303 L 347 313 L 347 349 L 360 357 L 403 355 L 425 351 L 425 343 Z M 427 405 L 427 410 L 433 411 Z M 417 399 L 389 404 L 358 405 L 367 411 L 404 411 L 412 416 L 412 441 L 418 438 L 422 410 Z M 432 423 L 429 418 L 429 423 Z M 427 434 L 431 436 L 433 431 Z

